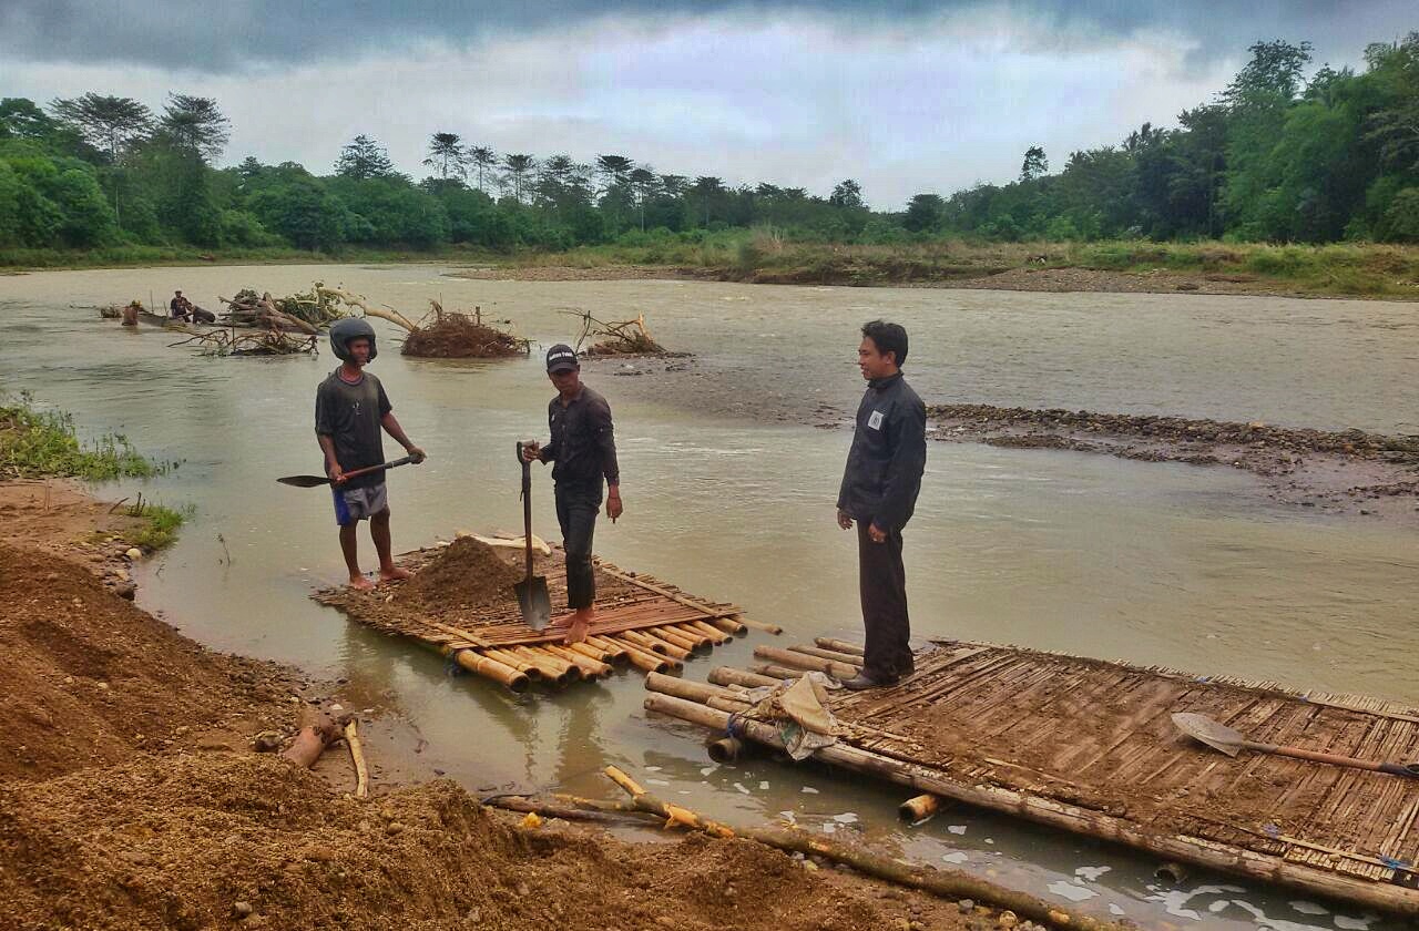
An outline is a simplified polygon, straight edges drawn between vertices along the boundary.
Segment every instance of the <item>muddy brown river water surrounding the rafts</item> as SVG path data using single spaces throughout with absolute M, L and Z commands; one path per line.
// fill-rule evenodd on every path
M 203 267 L 0 278 L 0 390 L 122 430 L 170 475 L 101 488 L 193 505 L 172 552 L 148 563 L 140 602 L 221 650 L 349 680 L 421 737 L 417 772 L 474 790 L 565 786 L 607 795 L 613 762 L 667 796 L 731 820 L 789 812 L 927 861 L 958 863 L 1046 898 L 1121 911 L 1148 927 L 1396 927 L 1298 896 L 1198 877 L 979 813 L 902 829 L 900 792 L 771 762 L 714 766 L 702 735 L 640 710 L 639 680 L 515 700 L 308 600 L 341 576 L 329 497 L 277 485 L 319 470 L 311 436 L 318 359 L 210 359 L 123 332 L 79 307 L 162 299 L 204 307 L 243 287 L 343 282 L 403 311 L 480 304 L 542 343 L 563 311 L 647 315 L 695 353 L 684 370 L 587 366 L 616 409 L 626 517 L 597 527 L 622 566 L 735 600 L 788 639 L 856 632 L 853 541 L 833 525 L 861 383 L 856 328 L 888 316 L 912 334 L 908 373 L 928 402 L 1169 413 L 1419 433 L 1419 308 L 1200 295 L 773 288 L 702 282 L 491 282 L 438 267 Z M 410 360 L 383 338 L 375 372 L 429 453 L 390 478 L 396 546 L 457 529 L 515 529 L 514 443 L 545 433 L 536 360 Z M 631 366 L 631 368 L 626 368 Z M 555 536 L 551 485 L 534 475 L 535 528 Z M 1220 468 L 1076 453 L 935 444 L 907 532 L 915 632 L 1159 663 L 1419 701 L 1419 541 L 1412 532 L 1267 502 Z M 366 545 L 366 558 L 369 549 Z M 751 637 L 687 668 L 744 663 Z M 416 752 L 417 751 L 417 752 Z M 813 789 L 812 792 L 809 789 Z M 1104 870 L 1103 867 L 1108 867 Z M 1320 911 L 1324 908 L 1324 911 Z M 1293 924 L 1286 924 L 1293 922 Z

